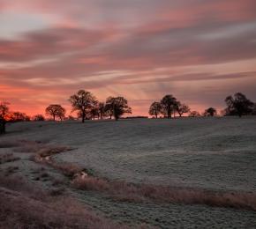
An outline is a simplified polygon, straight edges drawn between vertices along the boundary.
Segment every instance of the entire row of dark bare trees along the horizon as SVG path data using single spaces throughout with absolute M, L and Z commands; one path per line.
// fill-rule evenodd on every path
M 117 121 L 124 114 L 132 114 L 132 108 L 128 106 L 128 101 L 124 97 L 108 97 L 105 102 L 100 102 L 91 92 L 79 90 L 79 92 L 70 96 L 69 101 L 72 105 L 72 113 L 76 112 L 77 117 L 82 122 L 85 120 L 105 119 L 112 117 Z M 247 99 L 241 92 L 228 96 L 225 99 L 227 107 L 221 111 L 221 115 L 256 115 L 256 103 Z M 189 117 L 215 116 L 217 110 L 215 107 L 208 107 L 202 114 L 198 111 L 191 111 L 191 108 L 173 95 L 165 95 L 162 100 L 154 101 L 148 110 L 148 114 L 159 118 L 172 118 L 176 115 L 182 117 L 188 114 Z M 59 104 L 51 104 L 45 109 L 45 115 L 52 120 L 73 120 L 72 115 L 66 116 L 66 110 Z M 44 115 L 34 115 L 29 117 L 25 113 L 11 112 L 9 103 L 0 102 L 0 134 L 5 132 L 7 122 L 24 121 L 45 121 Z

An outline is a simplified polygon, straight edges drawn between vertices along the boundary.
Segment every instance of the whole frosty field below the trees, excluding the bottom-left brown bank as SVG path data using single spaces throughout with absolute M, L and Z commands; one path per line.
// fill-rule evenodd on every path
M 61 195 L 113 225 L 256 226 L 254 117 L 20 122 L 7 129 L 0 138 L 2 175 L 22 176 L 43 190 L 62 188 Z M 55 164 L 33 158 L 43 153 Z M 79 188 L 66 172 L 76 167 L 92 174 Z

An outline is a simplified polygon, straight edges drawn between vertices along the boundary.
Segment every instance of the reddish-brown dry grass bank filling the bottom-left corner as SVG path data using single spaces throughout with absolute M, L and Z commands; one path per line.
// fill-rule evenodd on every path
M 0 183 L 0 228 L 124 228 L 59 196 L 59 190 L 46 193 L 19 177 L 1 176 Z

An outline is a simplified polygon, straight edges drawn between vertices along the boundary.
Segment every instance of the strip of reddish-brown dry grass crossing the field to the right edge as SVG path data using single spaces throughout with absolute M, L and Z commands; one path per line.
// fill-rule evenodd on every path
M 124 181 L 107 181 L 94 177 L 76 178 L 74 188 L 108 194 L 118 201 L 205 204 L 256 211 L 256 195 L 241 192 L 216 192 L 195 188 L 169 188 L 154 185 L 135 185 Z

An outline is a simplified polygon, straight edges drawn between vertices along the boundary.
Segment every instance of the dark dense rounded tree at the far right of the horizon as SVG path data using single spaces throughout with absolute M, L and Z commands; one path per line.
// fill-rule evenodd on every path
M 226 114 L 227 115 L 250 115 L 253 110 L 253 102 L 248 100 L 245 94 L 241 92 L 235 93 L 234 97 L 228 96 L 225 100 L 227 104 Z

